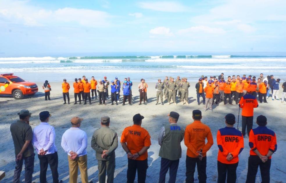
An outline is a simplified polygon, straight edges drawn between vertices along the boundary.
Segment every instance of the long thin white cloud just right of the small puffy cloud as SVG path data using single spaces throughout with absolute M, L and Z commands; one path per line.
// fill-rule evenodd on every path
M 180 29 L 178 31 L 179 34 L 185 34 L 185 33 L 196 33 L 196 32 L 203 32 L 203 33 L 209 33 L 209 34 L 224 34 L 226 31 L 222 28 L 214 28 L 214 27 L 208 27 L 208 26 L 193 26 L 190 28 Z

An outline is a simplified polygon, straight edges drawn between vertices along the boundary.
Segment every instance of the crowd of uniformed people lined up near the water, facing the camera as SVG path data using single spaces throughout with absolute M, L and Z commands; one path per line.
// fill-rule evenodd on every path
M 224 78 L 224 73 L 216 78 L 216 76 L 201 76 L 199 81 L 196 83 L 196 98 L 198 105 L 201 104 L 200 97 L 203 98 L 203 105 L 205 105 L 205 111 L 212 111 L 212 105 L 218 105 L 220 102 L 224 102 L 224 105 L 228 103 L 233 105 L 233 101 L 235 104 L 238 104 L 241 97 L 246 94 L 246 92 L 251 92 L 255 98 L 259 99 L 259 102 L 267 103 L 267 98 L 272 94 L 272 100 L 279 100 L 279 83 L 280 79 L 274 79 L 273 75 L 267 76 L 264 78 L 263 73 L 257 78 L 255 76 L 249 75 L 246 77 L 244 74 L 242 77 L 239 75 L 228 76 L 228 78 Z M 110 87 L 109 87 L 110 86 Z M 89 104 L 91 100 L 97 99 L 99 97 L 98 105 L 106 105 L 106 101 L 111 98 L 111 105 L 118 105 L 120 100 L 120 92 L 123 93 L 122 105 L 125 105 L 125 102 L 128 100 L 129 105 L 132 105 L 132 86 L 133 83 L 130 78 L 124 78 L 124 82 L 121 87 L 121 82 L 115 77 L 114 80 L 109 82 L 107 77 L 104 76 L 103 80 L 99 80 L 99 83 L 94 76 L 92 76 L 91 80 L 88 81 L 85 76 L 81 78 L 75 78 L 73 83 L 74 88 L 74 104 L 81 104 L 83 101 L 84 105 L 87 104 L 87 100 Z M 158 82 L 155 84 L 156 89 L 156 105 L 159 103 L 159 99 L 161 105 L 164 105 L 165 101 L 168 104 L 172 102 L 177 105 L 177 100 L 182 102 L 184 105 L 187 103 L 189 105 L 189 87 L 190 83 L 187 81 L 186 77 L 180 79 L 180 76 L 177 76 L 177 79 L 174 80 L 173 77 L 165 77 L 165 80 L 158 79 Z M 110 88 L 110 91 L 109 91 Z M 143 104 L 147 105 L 147 88 L 148 85 L 144 79 L 140 80 L 138 85 L 139 90 L 139 105 Z M 286 96 L 286 82 L 282 85 L 283 94 L 281 98 L 281 103 L 284 102 Z M 50 100 L 50 91 L 51 85 L 46 80 L 43 89 L 45 91 L 45 100 Z M 70 85 L 66 79 L 63 80 L 62 83 L 62 95 L 64 99 L 64 104 L 70 104 L 69 99 L 69 89 Z M 270 93 L 271 92 L 271 93 Z M 90 94 L 91 93 L 91 94 Z M 263 100 L 262 100 L 263 99 Z

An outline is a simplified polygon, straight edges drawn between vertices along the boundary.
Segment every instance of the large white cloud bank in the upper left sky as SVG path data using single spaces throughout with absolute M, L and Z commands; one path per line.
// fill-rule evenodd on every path
M 0 1 L 0 18 L 8 19 L 10 22 L 29 26 L 62 25 L 63 23 L 74 23 L 86 27 L 108 26 L 107 12 L 60 8 L 47 10 L 30 6 L 27 1 Z

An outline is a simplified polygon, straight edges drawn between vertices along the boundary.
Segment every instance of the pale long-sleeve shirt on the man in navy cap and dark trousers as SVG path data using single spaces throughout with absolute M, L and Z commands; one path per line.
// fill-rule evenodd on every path
M 55 138 L 55 128 L 49 125 L 49 123 L 41 122 L 40 125 L 36 126 L 33 130 L 32 143 L 38 154 L 41 149 L 47 151 L 46 154 L 53 154 L 58 151 L 55 145 Z

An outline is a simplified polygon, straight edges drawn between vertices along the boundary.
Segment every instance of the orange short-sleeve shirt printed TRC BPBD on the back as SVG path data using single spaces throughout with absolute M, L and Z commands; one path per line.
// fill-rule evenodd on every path
M 138 153 L 144 146 L 151 146 L 151 137 L 147 130 L 140 125 L 126 127 L 121 135 L 121 143 L 127 143 L 131 154 Z M 136 160 L 145 160 L 148 158 L 147 151 L 140 155 Z

